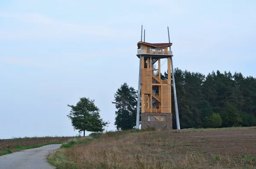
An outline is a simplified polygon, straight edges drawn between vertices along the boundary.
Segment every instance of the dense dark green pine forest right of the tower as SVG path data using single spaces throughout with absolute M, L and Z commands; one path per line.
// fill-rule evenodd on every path
M 256 78 L 220 71 L 205 76 L 178 68 L 174 75 L 181 128 L 256 126 Z

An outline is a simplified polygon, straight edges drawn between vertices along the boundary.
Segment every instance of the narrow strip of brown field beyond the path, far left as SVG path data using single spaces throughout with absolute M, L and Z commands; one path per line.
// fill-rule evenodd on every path
M 20 146 L 29 146 L 29 145 L 38 145 L 38 144 L 45 144 L 45 143 L 53 143 L 59 141 L 68 141 L 73 137 L 48 137 L 48 138 L 30 138 L 30 139 L 3 139 L 0 140 L 0 150 L 7 148 L 7 149 L 14 149 L 15 145 Z

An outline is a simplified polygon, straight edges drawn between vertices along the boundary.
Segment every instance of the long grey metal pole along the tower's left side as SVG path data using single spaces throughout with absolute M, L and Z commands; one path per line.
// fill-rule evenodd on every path
M 141 25 L 141 36 L 140 41 L 142 42 L 142 30 L 143 25 Z M 144 41 L 145 41 L 145 34 L 144 34 Z M 142 44 L 140 44 L 140 49 L 142 48 Z M 140 55 L 140 66 L 141 66 L 141 55 Z M 138 99 L 137 99 L 137 116 L 136 116 L 136 129 L 139 129 L 140 126 L 140 77 L 141 77 L 141 68 L 139 66 L 139 82 L 138 82 Z

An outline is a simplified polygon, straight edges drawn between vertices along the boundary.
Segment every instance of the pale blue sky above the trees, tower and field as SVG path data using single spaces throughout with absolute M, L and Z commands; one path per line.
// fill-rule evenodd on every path
M 95 99 L 115 129 L 114 93 L 137 89 L 140 28 L 174 66 L 256 76 L 254 0 L 0 0 L 0 138 L 76 135 L 67 104 Z M 87 133 L 88 134 L 88 133 Z

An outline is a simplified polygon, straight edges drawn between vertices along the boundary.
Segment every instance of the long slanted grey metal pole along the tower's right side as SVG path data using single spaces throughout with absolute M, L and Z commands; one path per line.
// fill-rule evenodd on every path
M 167 28 L 168 28 L 169 43 L 171 43 L 171 41 L 170 41 L 170 34 L 169 34 L 169 26 L 167 26 Z M 172 51 L 171 50 L 171 46 L 170 46 L 170 51 Z M 172 85 L 173 85 L 173 94 L 174 94 L 176 123 L 177 123 L 177 129 L 180 130 L 180 118 L 179 118 L 179 110 L 178 110 L 178 103 L 177 103 L 177 94 L 176 94 L 176 86 L 175 86 L 175 78 L 174 78 L 172 56 L 171 56 L 171 64 L 172 64 Z

